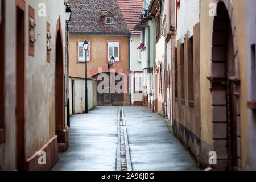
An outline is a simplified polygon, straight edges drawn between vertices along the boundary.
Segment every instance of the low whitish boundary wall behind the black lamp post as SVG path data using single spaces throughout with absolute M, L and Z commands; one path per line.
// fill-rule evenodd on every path
M 73 85 L 73 97 L 72 97 L 72 80 Z M 88 110 L 92 110 L 97 106 L 97 80 L 88 79 Z M 69 103 L 70 103 L 70 115 L 72 115 L 72 104 L 74 112 L 73 114 L 82 114 L 85 111 L 85 78 L 69 77 Z M 74 98 L 74 101 L 73 101 Z

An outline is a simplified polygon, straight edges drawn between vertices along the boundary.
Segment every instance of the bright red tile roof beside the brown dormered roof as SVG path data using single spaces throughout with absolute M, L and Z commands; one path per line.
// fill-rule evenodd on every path
M 131 33 L 141 34 L 141 31 L 134 30 L 133 27 L 139 22 L 139 15 L 143 10 L 142 0 L 117 0 L 117 2 Z

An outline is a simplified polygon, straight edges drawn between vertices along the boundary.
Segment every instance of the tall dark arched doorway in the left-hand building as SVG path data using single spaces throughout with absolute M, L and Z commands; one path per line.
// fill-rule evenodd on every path
M 55 53 L 55 129 L 58 136 L 58 143 L 65 143 L 61 132 L 64 127 L 64 71 L 63 71 L 63 44 L 60 30 L 56 36 Z

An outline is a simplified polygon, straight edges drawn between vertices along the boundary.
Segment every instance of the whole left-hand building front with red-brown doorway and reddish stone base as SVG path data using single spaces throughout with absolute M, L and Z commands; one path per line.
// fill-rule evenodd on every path
M 68 147 L 65 4 L 0 4 L 0 169 L 49 170 Z M 41 155 L 46 165 L 38 163 Z

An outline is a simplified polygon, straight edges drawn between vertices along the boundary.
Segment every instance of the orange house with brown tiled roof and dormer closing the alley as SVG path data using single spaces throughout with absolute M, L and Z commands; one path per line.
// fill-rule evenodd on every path
M 131 33 L 118 1 L 71 0 L 69 4 L 73 10 L 69 28 L 69 76 L 71 82 L 76 82 L 76 78 L 85 78 L 85 51 L 82 44 L 86 39 L 89 42 L 87 71 L 89 78 L 97 80 L 97 105 L 130 105 L 129 38 Z M 85 24 L 86 26 L 84 26 Z M 114 56 L 115 62 L 109 67 L 112 56 Z M 113 77 L 111 73 L 114 73 Z M 112 85 L 112 78 L 115 81 L 114 85 Z M 106 85 L 98 87 L 102 81 L 106 81 Z M 120 81 L 123 83 L 121 86 L 123 92 L 117 93 L 115 88 Z M 82 88 L 82 86 L 75 88 Z M 98 88 L 104 89 L 104 92 L 99 92 Z M 73 92 L 78 93 L 75 89 Z M 74 95 L 75 93 L 70 94 Z M 78 104 L 80 103 L 83 104 L 84 101 L 81 99 Z M 85 109 L 84 106 L 78 107 Z

